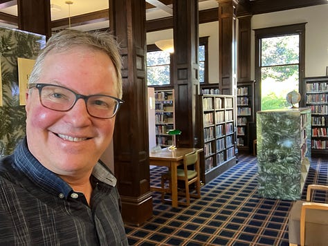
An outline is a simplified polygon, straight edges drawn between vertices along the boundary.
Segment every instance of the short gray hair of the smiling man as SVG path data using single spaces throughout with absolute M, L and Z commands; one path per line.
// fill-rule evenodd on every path
M 109 32 L 82 32 L 79 30 L 62 30 L 51 36 L 43 48 L 30 74 L 28 83 L 37 83 L 43 68 L 44 59 L 51 50 L 64 52 L 76 46 L 85 46 L 106 53 L 116 69 L 118 98 L 122 98 L 122 58 L 116 40 Z

